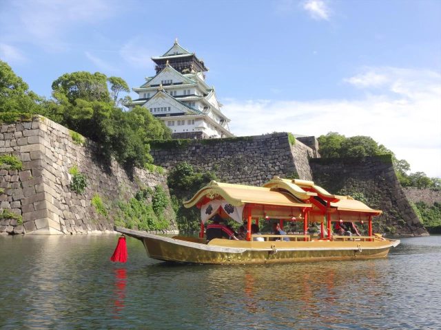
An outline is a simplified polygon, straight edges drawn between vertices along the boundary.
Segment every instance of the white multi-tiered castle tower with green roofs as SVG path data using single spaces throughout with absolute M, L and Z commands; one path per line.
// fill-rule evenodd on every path
M 229 118 L 220 107 L 214 87 L 205 83 L 208 69 L 196 54 L 178 41 L 162 56 L 152 57 L 156 76 L 133 89 L 139 98 L 124 104 L 150 109 L 152 115 L 163 120 L 174 138 L 232 137 Z

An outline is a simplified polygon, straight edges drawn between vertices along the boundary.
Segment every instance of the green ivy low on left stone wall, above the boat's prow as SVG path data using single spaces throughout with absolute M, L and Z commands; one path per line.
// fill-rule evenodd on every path
M 149 201 L 150 198 L 152 202 Z M 161 186 L 156 186 L 154 190 L 140 190 L 127 202 L 116 201 L 115 224 L 146 231 L 165 230 L 170 226 L 170 221 L 164 214 L 169 204 L 170 200 Z

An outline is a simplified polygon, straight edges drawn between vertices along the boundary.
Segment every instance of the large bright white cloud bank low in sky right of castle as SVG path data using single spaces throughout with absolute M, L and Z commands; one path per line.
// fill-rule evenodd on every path
M 382 67 L 345 81 L 367 86 L 369 94 L 359 100 L 224 100 L 223 111 L 236 135 L 368 135 L 406 159 L 413 172 L 441 177 L 441 75 Z

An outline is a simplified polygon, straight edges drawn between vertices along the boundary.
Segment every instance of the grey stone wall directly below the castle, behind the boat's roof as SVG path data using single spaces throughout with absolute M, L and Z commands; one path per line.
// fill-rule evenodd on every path
M 301 142 L 289 144 L 287 133 L 225 139 L 167 141 L 152 144 L 154 163 L 172 168 L 181 162 L 216 173 L 220 181 L 261 186 L 279 175 L 311 179 L 308 158 L 314 151 Z

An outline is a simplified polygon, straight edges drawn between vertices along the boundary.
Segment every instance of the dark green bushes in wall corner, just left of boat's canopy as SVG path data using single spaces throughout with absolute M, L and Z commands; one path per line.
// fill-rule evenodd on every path
M 184 208 L 183 201 L 193 197 L 199 189 L 212 180 L 216 180 L 214 173 L 204 172 L 186 162 L 178 164 L 170 171 L 167 184 L 180 232 L 198 232 L 201 225 L 201 211 L 198 208 Z

